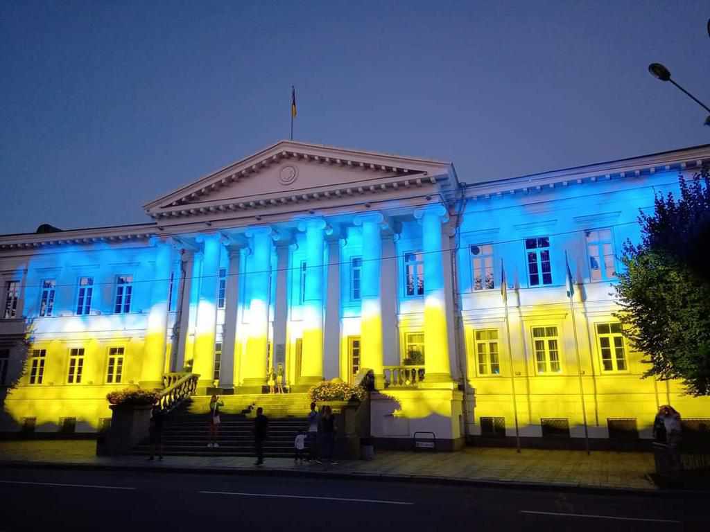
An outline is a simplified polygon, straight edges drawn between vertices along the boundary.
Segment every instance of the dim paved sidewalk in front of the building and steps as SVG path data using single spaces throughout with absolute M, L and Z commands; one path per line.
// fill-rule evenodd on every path
M 552 487 L 655 491 L 648 477 L 650 453 L 577 450 L 466 448 L 458 453 L 381 451 L 371 461 L 345 460 L 338 465 L 295 465 L 290 458 L 170 456 L 148 461 L 141 456 L 99 457 L 93 440 L 0 441 L 0 467 L 52 465 L 101 469 L 235 472 L 245 475 L 325 475 L 387 480 L 535 484 Z

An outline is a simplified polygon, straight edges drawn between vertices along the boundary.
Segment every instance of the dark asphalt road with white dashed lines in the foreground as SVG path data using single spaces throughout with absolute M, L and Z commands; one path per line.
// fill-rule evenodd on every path
M 708 530 L 705 497 L 163 472 L 0 472 L 0 532 Z

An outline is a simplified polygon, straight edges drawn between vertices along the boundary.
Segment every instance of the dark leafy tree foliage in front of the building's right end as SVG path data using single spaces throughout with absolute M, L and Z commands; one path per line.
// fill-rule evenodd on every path
M 693 395 L 710 395 L 710 228 L 707 169 L 679 178 L 680 195 L 657 195 L 652 215 L 640 214 L 639 245 L 627 242 L 616 316 L 633 348 L 650 364 L 644 377 L 682 379 Z

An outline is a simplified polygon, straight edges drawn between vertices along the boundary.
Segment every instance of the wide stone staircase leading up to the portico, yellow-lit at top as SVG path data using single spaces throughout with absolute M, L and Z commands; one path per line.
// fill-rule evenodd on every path
M 269 419 L 266 457 L 293 456 L 296 434 L 307 430 L 310 407 L 306 394 L 227 395 L 221 398 L 219 448 L 209 448 L 209 399 L 193 396 L 168 415 L 163 428 L 164 455 L 254 456 L 252 428 L 258 406 Z M 148 455 L 150 449 L 149 441 L 144 440 L 133 454 Z

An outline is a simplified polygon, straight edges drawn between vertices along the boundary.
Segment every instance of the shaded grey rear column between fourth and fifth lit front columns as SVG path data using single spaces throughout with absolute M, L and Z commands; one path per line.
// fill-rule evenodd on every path
M 327 294 L 325 303 L 323 377 L 340 377 L 340 240 L 328 240 Z

